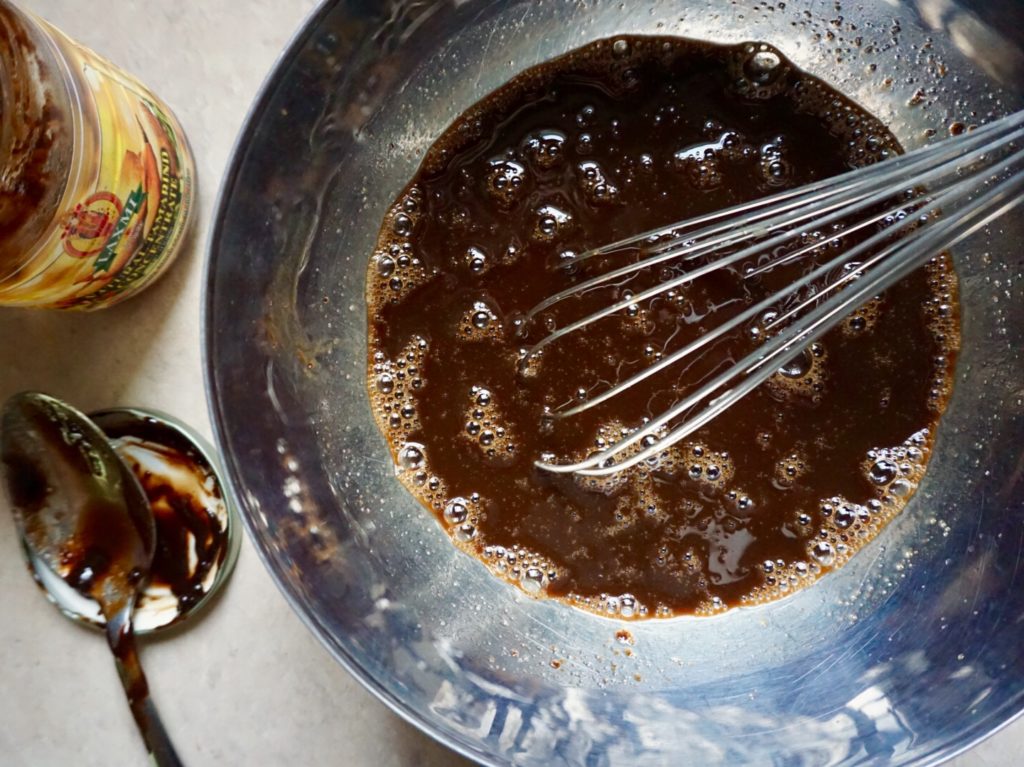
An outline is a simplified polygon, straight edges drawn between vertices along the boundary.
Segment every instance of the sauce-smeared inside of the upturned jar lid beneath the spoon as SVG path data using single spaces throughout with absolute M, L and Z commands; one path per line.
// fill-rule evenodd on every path
M 188 439 L 156 419 L 109 413 L 97 420 L 141 484 L 156 520 L 152 576 L 139 607 L 166 589 L 183 611 L 206 595 L 227 557 L 219 480 Z

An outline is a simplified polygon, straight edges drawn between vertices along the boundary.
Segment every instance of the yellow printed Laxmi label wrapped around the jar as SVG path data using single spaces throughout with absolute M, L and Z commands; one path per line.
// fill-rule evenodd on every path
M 177 251 L 191 158 L 180 125 L 142 85 L 46 29 L 83 86 L 71 116 L 83 156 L 62 212 L 14 284 L 0 285 L 0 303 L 100 308 L 151 283 Z

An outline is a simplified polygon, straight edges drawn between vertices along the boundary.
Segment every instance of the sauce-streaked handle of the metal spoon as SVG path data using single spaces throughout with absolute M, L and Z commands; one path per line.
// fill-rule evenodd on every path
M 128 696 L 128 706 L 131 707 L 135 724 L 142 734 L 142 740 L 145 741 L 153 763 L 157 767 L 182 767 L 181 760 L 174 751 L 174 744 L 157 713 L 157 706 L 150 697 L 150 685 L 145 681 L 145 674 L 142 673 L 142 665 L 139 663 L 135 647 L 131 610 L 132 607 L 129 605 L 106 622 L 106 642 L 114 653 L 118 675 Z

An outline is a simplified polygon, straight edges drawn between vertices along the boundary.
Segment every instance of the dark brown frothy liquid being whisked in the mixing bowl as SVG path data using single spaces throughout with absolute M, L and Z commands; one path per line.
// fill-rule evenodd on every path
M 636 258 L 573 263 L 588 248 L 899 151 L 881 123 L 764 44 L 617 38 L 518 76 L 431 147 L 371 259 L 369 387 L 399 479 L 497 574 L 602 613 L 713 613 L 839 566 L 904 507 L 927 465 L 958 346 L 944 257 L 685 442 L 609 479 L 535 462 L 581 460 L 636 429 L 755 348 L 766 323 L 553 416 L 819 261 L 758 279 L 715 272 L 565 337 L 525 371 L 521 349 L 552 329 L 681 267 L 522 317 Z

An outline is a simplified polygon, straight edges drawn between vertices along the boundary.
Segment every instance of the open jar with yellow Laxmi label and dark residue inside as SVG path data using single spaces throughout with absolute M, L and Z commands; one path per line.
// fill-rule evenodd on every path
M 0 0 L 0 306 L 98 309 L 152 284 L 194 177 L 163 101 Z

